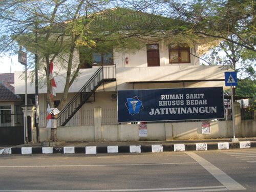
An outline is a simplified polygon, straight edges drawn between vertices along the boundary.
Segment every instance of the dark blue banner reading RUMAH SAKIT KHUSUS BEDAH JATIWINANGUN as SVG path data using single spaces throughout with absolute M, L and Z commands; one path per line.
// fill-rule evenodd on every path
M 224 118 L 223 88 L 117 91 L 118 122 Z

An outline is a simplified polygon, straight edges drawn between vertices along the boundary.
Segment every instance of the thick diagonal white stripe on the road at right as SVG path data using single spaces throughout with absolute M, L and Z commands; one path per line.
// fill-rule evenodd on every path
M 185 152 L 188 156 L 197 161 L 202 167 L 204 167 L 212 176 L 214 176 L 220 183 L 222 183 L 228 190 L 246 190 L 237 181 L 233 180 L 221 169 L 211 164 L 209 161 L 200 157 L 193 152 Z

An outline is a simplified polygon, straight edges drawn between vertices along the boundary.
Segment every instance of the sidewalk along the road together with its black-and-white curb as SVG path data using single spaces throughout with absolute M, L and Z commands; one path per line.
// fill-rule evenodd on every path
M 207 151 L 256 147 L 256 138 L 230 138 L 207 140 L 131 141 L 131 142 L 66 142 L 58 146 L 28 143 L 0 146 L 2 154 L 102 154 L 102 153 L 155 153 L 169 151 Z

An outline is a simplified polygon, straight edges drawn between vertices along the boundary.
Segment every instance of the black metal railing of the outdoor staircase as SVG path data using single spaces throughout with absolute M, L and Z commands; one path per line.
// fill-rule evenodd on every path
M 105 70 L 104 70 L 105 68 Z M 105 81 L 116 79 L 116 67 L 101 66 L 78 93 L 69 101 L 69 103 L 58 114 L 58 126 L 65 126 L 69 120 L 76 114 L 81 106 L 92 96 L 100 84 Z

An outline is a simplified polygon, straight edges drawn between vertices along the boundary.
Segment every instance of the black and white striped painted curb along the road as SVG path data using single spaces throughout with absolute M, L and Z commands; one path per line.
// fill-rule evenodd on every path
M 8 147 L 2 154 L 103 154 L 103 153 L 158 153 L 182 151 L 228 150 L 232 148 L 256 147 L 256 141 L 154 144 L 154 145 L 111 145 L 111 146 L 65 146 L 65 147 Z

